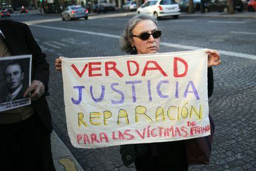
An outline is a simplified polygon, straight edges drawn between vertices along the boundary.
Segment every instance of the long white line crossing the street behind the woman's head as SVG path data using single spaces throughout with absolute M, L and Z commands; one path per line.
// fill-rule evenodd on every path
M 54 30 L 72 31 L 72 32 L 76 32 L 76 33 L 85 33 L 88 35 L 105 36 L 108 38 L 117 38 L 117 39 L 120 38 L 120 36 L 110 35 L 107 33 L 96 33 L 96 32 L 92 32 L 92 31 L 82 31 L 82 30 L 75 30 L 75 29 L 69 29 L 69 28 L 49 27 L 49 26 L 45 26 L 45 25 L 32 25 L 32 26 L 41 27 L 41 28 L 49 28 L 49 29 L 54 29 Z M 205 48 L 197 47 L 197 46 L 186 46 L 186 45 L 182 45 L 182 44 L 174 44 L 174 43 L 167 43 L 167 42 L 162 42 L 161 45 L 168 46 L 171 48 L 188 49 L 188 50 L 205 49 Z M 242 54 L 242 53 L 230 52 L 230 51 L 221 51 L 221 50 L 217 50 L 217 51 L 220 52 L 221 54 L 224 54 L 227 56 L 242 57 L 242 58 L 246 58 L 246 59 L 255 59 L 256 60 L 255 55 Z

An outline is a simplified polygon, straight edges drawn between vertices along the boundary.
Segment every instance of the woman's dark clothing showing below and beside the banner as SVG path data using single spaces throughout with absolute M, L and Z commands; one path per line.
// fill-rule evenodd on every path
M 213 70 L 208 68 L 207 72 L 208 78 L 208 97 L 213 93 Z M 186 156 L 186 142 L 187 140 L 182 141 L 170 141 L 164 143 L 146 143 L 146 144 L 130 144 L 122 145 L 120 153 L 122 156 L 122 161 L 124 165 L 128 166 L 135 162 L 137 169 L 142 170 L 152 170 L 151 165 L 148 164 L 150 156 L 158 156 L 158 159 L 163 165 L 178 164 L 182 165 L 183 162 L 187 162 Z M 157 161 L 159 162 L 159 161 Z M 160 165 L 161 165 L 160 164 Z M 197 164 L 197 163 L 194 163 Z M 202 164 L 202 163 L 198 163 Z M 140 165 L 140 166 L 139 166 Z M 146 165 L 149 167 L 146 168 Z M 161 170 L 161 169 L 160 169 Z M 171 169 L 169 169 L 171 170 Z M 172 170 L 181 170 L 181 169 L 172 169 Z M 183 170 L 183 169 L 182 169 Z M 184 169 L 186 170 L 186 169 Z

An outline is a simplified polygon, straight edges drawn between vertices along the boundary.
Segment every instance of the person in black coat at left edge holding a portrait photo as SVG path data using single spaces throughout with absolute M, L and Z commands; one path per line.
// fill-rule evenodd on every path
M 0 20 L 0 57 L 32 54 L 32 84 L 23 97 L 32 104 L 0 112 L 0 170 L 55 170 L 51 154 L 51 115 L 48 93 L 49 64 L 30 28 Z

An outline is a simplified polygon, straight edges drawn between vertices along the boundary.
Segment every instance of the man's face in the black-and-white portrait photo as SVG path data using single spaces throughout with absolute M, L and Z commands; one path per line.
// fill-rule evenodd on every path
M 22 84 L 24 73 L 19 64 L 9 65 L 4 71 L 4 80 L 9 90 L 14 92 Z

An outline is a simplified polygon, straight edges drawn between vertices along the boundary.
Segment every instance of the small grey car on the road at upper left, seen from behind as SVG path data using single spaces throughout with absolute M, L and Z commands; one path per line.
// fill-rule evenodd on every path
M 88 10 L 82 6 L 67 6 L 64 12 L 61 13 L 62 20 L 73 20 L 84 18 L 88 19 Z

